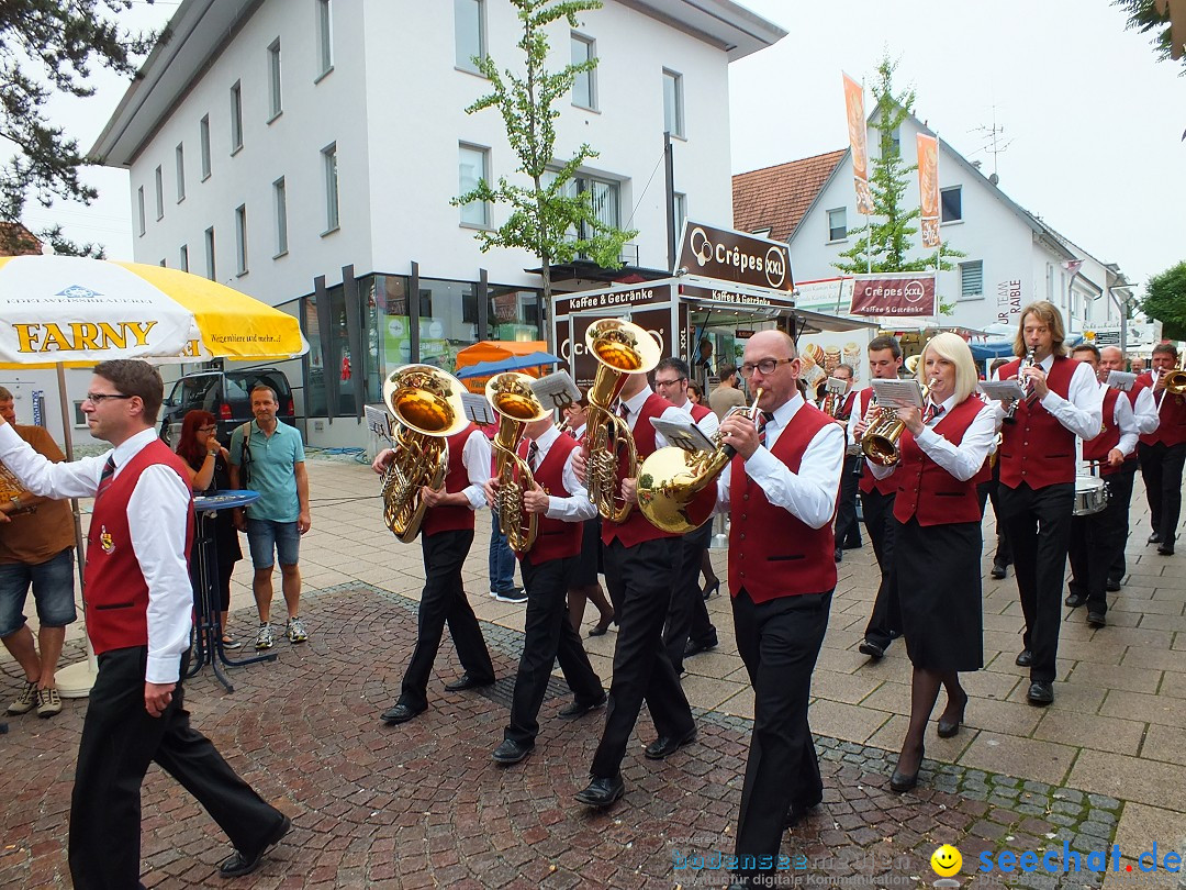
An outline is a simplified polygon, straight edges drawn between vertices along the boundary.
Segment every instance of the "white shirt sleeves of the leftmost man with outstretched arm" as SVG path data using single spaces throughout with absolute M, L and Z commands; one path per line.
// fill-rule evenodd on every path
M 33 451 L 11 424 L 5 424 L 0 427 L 0 460 L 34 495 L 59 500 L 94 497 L 108 454 L 115 459 L 113 478 L 117 478 L 128 460 L 155 438 L 157 431 L 149 427 L 114 451 L 55 464 Z M 193 586 L 185 560 L 189 513 L 189 482 L 164 464 L 145 468 L 128 500 L 128 532 L 148 584 L 147 682 L 177 682 L 181 653 L 190 648 Z

